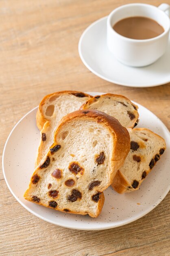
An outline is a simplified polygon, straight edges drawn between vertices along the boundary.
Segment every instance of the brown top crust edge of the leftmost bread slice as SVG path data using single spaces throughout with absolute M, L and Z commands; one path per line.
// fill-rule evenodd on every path
M 74 93 L 83 93 L 85 95 L 85 97 L 89 97 L 92 98 L 91 95 L 85 93 L 85 92 L 79 92 L 79 91 L 60 91 L 60 92 L 53 92 L 51 94 L 46 95 L 40 102 L 39 104 L 39 108 L 37 110 L 37 114 L 36 114 L 36 121 L 37 121 L 37 127 L 39 128 L 39 130 L 42 130 L 44 124 L 46 121 L 48 121 L 48 119 L 46 119 L 43 115 L 42 112 L 42 106 L 44 105 L 44 102 L 46 101 L 46 99 L 56 96 L 59 97 L 61 94 L 74 94 Z

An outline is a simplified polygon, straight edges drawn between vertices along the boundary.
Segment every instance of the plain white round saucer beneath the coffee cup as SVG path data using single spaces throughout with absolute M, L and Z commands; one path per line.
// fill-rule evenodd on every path
M 147 67 L 128 67 L 107 49 L 107 17 L 92 23 L 81 35 L 78 52 L 85 66 L 102 79 L 118 85 L 151 87 L 170 82 L 170 37 L 166 53 Z

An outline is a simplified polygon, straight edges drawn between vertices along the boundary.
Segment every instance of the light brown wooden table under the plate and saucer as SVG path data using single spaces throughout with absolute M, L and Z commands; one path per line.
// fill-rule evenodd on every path
M 0 1 L 0 151 L 17 121 L 59 90 L 123 94 L 170 128 L 170 83 L 128 88 L 92 74 L 78 40 L 95 20 L 131 0 Z M 158 6 L 160 1 L 143 2 Z M 170 3 L 170 0 L 166 0 Z M 15 170 L 11 170 L 11 175 Z M 0 173 L 1 255 L 170 255 L 170 193 L 143 218 L 103 231 L 57 227 L 35 217 L 11 195 Z

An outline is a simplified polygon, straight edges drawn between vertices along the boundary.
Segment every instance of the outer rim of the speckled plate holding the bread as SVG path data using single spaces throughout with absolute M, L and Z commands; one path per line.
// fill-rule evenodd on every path
M 95 95 L 101 95 L 101 94 L 105 94 L 105 93 L 102 93 L 102 92 L 87 92 L 88 94 L 95 94 Z M 139 107 L 143 107 L 145 108 L 144 106 L 140 105 L 139 103 L 136 103 L 135 101 L 132 101 L 133 103 L 137 104 Z M 155 207 L 157 207 L 157 205 L 166 197 L 166 195 L 168 194 L 168 192 L 170 191 L 170 186 L 167 187 L 166 191 L 161 194 L 161 200 L 157 200 L 154 205 L 148 207 L 148 209 L 146 209 L 145 211 L 143 212 L 140 212 L 140 214 L 138 214 L 137 216 L 133 217 L 133 218 L 129 218 L 129 220 L 125 220 L 124 222 L 118 222 L 116 225 L 113 223 L 110 223 L 110 224 L 105 224 L 105 227 L 93 227 L 93 228 L 75 228 L 73 227 L 72 225 L 65 225 L 64 223 L 60 223 L 60 222 L 54 222 L 54 221 L 51 221 L 50 219 L 48 218 L 44 218 L 42 217 L 40 214 L 38 213 L 35 213 L 33 210 L 31 210 L 29 207 L 27 207 L 24 203 L 22 203 L 22 201 L 17 198 L 17 196 L 15 195 L 15 193 L 13 192 L 13 190 L 11 189 L 10 185 L 9 185 L 9 182 L 7 180 L 7 177 L 5 175 L 5 170 L 4 170 L 4 154 L 5 154 L 5 150 L 6 150 L 6 147 L 7 147 L 7 144 L 8 144 L 8 141 L 9 141 L 9 138 L 11 137 L 13 131 L 15 130 L 15 128 L 17 127 L 17 125 L 25 118 L 27 117 L 31 112 L 33 112 L 35 109 L 37 109 L 37 107 L 33 108 L 32 110 L 30 110 L 29 112 L 26 113 L 26 115 L 24 115 L 18 122 L 17 124 L 15 124 L 15 126 L 13 127 L 13 129 L 11 130 L 8 138 L 7 138 L 7 141 L 5 142 L 5 146 L 4 146 L 4 150 L 3 150 L 3 154 L 2 154 L 2 171 L 3 171 L 3 175 L 4 175 L 4 180 L 11 192 L 11 194 L 14 196 L 14 198 L 26 209 L 28 210 L 30 213 L 33 213 L 33 215 L 39 217 L 40 219 L 42 220 L 45 220 L 49 223 L 52 223 L 54 225 L 58 225 L 60 227 L 66 227 L 66 228 L 70 228 L 70 229 L 76 229 L 76 230 L 105 230 L 105 229 L 112 229 L 112 228 L 115 228 L 115 227 L 120 227 L 120 226 L 123 226 L 123 225 L 126 225 L 126 224 L 129 224 L 131 222 L 134 222 L 135 220 L 138 220 L 139 218 L 142 218 L 143 216 L 145 216 L 147 213 L 149 213 L 150 211 L 152 211 L 153 209 L 155 209 Z M 155 117 L 157 117 L 155 114 L 153 114 L 153 112 L 151 112 L 150 110 L 148 110 L 147 108 L 145 108 L 145 110 L 147 110 L 148 112 L 150 112 L 152 115 L 154 115 Z M 168 128 L 163 124 L 163 122 L 157 117 L 157 119 L 159 120 L 160 124 L 162 125 L 162 127 L 165 129 L 165 131 L 167 132 L 169 138 L 170 138 L 170 132 L 168 130 Z

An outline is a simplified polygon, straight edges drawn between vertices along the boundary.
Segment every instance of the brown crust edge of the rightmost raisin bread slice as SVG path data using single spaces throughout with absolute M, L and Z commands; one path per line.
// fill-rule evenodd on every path
M 148 132 L 153 133 L 154 135 L 156 135 L 157 137 L 159 137 L 159 139 L 162 139 L 162 140 L 163 140 L 163 142 L 164 142 L 164 144 L 165 144 L 165 150 L 166 150 L 166 142 L 165 142 L 165 140 L 164 140 L 161 136 L 157 135 L 155 132 L 153 132 L 153 131 L 151 131 L 151 130 L 149 130 L 149 129 L 147 129 L 147 128 L 134 128 L 133 130 L 148 131 Z M 157 161 L 157 162 L 158 162 L 158 161 Z M 155 163 L 155 164 L 156 164 L 156 163 Z M 150 173 L 151 170 L 152 170 L 152 169 L 150 169 L 149 166 L 148 166 L 148 170 L 145 170 L 145 171 L 146 171 L 146 177 L 147 177 L 148 173 Z M 124 177 L 124 175 L 121 173 L 121 171 L 118 170 L 117 173 L 116 173 L 116 176 L 115 176 L 115 178 L 114 178 L 114 180 L 113 180 L 113 183 L 111 184 L 111 186 L 112 186 L 112 188 L 113 188 L 116 192 L 118 192 L 118 193 L 120 193 L 120 194 L 122 194 L 122 193 L 129 193 L 129 192 L 138 190 L 140 184 L 141 184 L 144 180 L 145 180 L 145 179 L 138 181 L 138 182 L 139 182 L 139 185 L 138 185 L 138 187 L 137 187 L 136 189 L 133 189 L 133 188 L 129 189 L 128 186 L 131 187 L 131 184 L 129 183 L 128 180 L 126 180 L 126 177 Z

